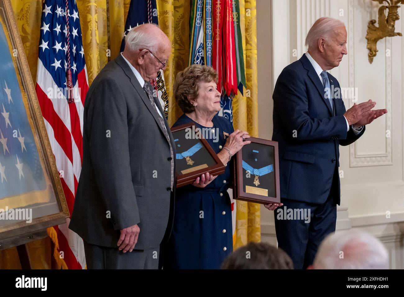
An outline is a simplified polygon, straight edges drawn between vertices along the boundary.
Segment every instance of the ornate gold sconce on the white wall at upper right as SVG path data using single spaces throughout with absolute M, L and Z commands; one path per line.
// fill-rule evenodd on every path
M 379 4 L 383 4 L 383 2 L 387 2 L 389 5 L 382 5 L 379 7 L 379 27 L 375 26 L 376 20 L 372 19 L 368 23 L 368 29 L 366 31 L 366 39 L 368 40 L 368 44 L 366 48 L 369 50 L 368 59 L 369 63 L 372 64 L 373 57 L 377 55 L 376 44 L 379 40 L 385 37 L 392 36 L 402 36 L 399 32 L 394 32 L 394 23 L 400 19 L 398 15 L 398 8 L 400 7 L 397 4 L 404 4 L 404 0 L 372 0 L 377 1 Z M 388 9 L 387 17 L 385 15 L 385 10 Z

